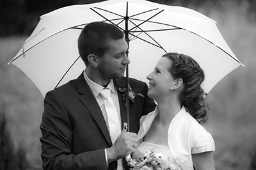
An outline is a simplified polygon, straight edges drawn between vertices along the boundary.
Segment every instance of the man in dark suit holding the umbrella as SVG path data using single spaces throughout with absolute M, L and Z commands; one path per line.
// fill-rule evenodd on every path
M 78 49 L 86 69 L 60 88 L 49 91 L 44 100 L 40 129 L 44 169 L 126 169 L 122 161 L 135 151 L 140 117 L 154 110 L 154 101 L 147 96 L 145 82 L 129 79 L 134 94 L 130 102 L 130 133 L 122 130 L 127 122 L 124 95 L 125 66 L 130 63 L 128 45 L 118 27 L 92 22 L 84 27 Z M 102 89 L 111 89 L 122 130 L 115 141 L 109 134 L 111 122 L 105 109 Z M 120 161 L 121 159 L 121 161 Z M 125 167 L 123 167 L 125 166 Z

